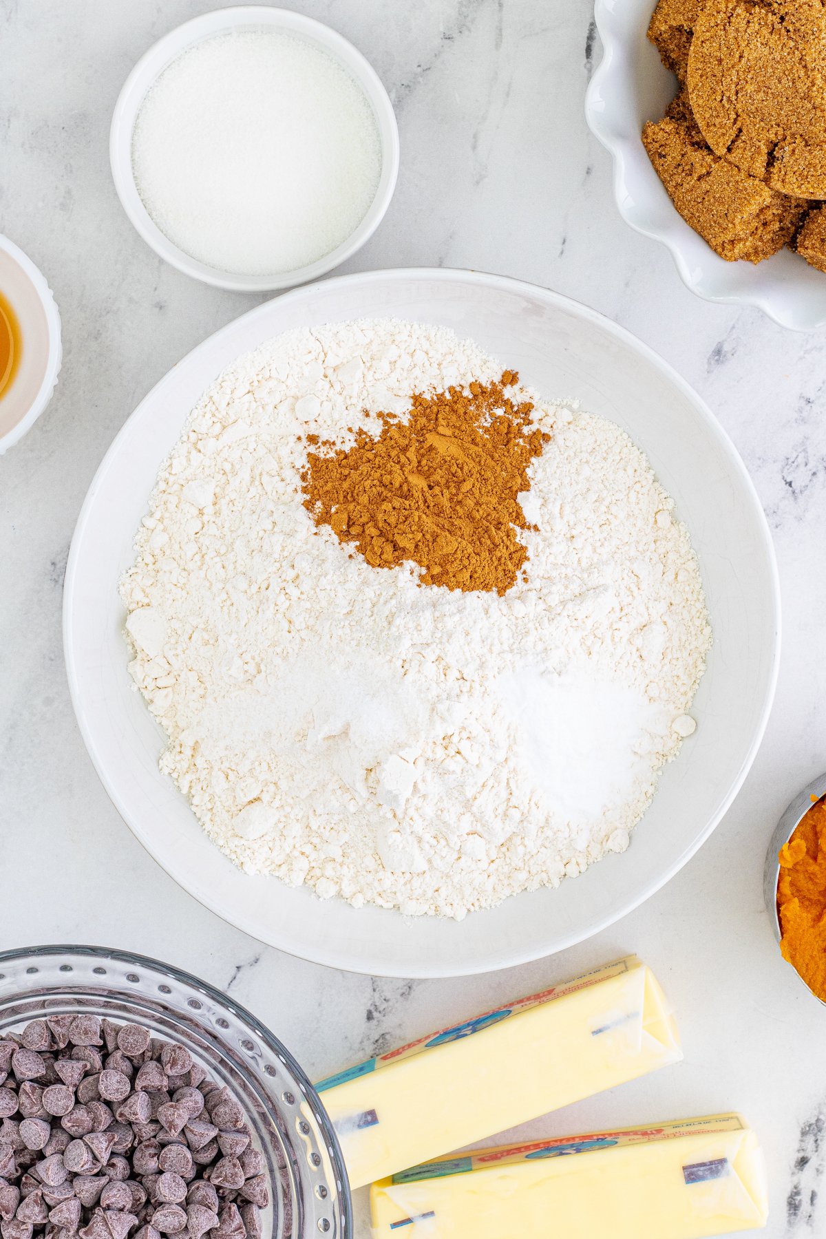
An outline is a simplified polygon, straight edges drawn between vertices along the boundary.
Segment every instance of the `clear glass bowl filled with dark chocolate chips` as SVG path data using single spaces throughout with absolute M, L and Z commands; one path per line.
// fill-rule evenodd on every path
M 98 947 L 0 953 L 1 1239 L 349 1239 L 308 1079 L 243 1007 Z

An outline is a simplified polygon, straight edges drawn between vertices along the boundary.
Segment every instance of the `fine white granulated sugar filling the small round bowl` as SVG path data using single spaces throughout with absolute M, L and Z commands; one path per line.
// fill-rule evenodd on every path
M 135 183 L 192 258 L 224 271 L 291 271 L 329 254 L 373 202 L 379 131 L 360 85 L 302 38 L 244 30 L 173 61 L 141 104 Z

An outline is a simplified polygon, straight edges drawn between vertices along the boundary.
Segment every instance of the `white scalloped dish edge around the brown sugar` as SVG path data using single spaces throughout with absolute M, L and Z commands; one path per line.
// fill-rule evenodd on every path
M 612 183 L 614 202 L 619 214 L 629 228 L 634 229 L 634 232 L 640 233 L 643 237 L 650 237 L 651 240 L 660 242 L 660 244 L 665 245 L 674 259 L 677 274 L 685 286 L 693 292 L 695 296 L 702 297 L 703 301 L 711 301 L 718 305 L 755 306 L 773 322 L 776 322 L 778 326 L 785 327 L 789 331 L 816 331 L 819 327 L 822 327 L 826 325 L 826 309 L 807 318 L 805 316 L 795 318 L 788 309 L 781 307 L 775 299 L 760 292 L 758 289 L 749 291 L 724 291 L 721 289 L 715 292 L 700 289 L 697 286 L 697 279 L 692 273 L 691 258 L 686 254 L 686 248 L 695 248 L 696 245 L 700 245 L 702 247 L 703 253 L 707 252 L 708 254 L 713 254 L 713 250 L 710 249 L 707 243 L 697 233 L 690 229 L 690 225 L 685 223 L 672 203 L 670 204 L 671 209 L 669 225 L 645 225 L 640 221 L 633 218 L 629 213 L 627 203 L 633 201 L 632 193 L 628 188 L 629 162 L 632 160 L 640 159 L 640 152 L 648 161 L 648 155 L 645 155 L 641 138 L 639 135 L 634 135 L 634 138 L 628 139 L 622 134 L 618 134 L 615 129 L 617 116 L 614 115 L 612 121 L 609 109 L 601 107 L 608 97 L 612 97 L 613 103 L 615 104 L 618 79 L 630 81 L 633 74 L 632 66 L 629 63 L 629 48 L 623 40 L 614 36 L 612 24 L 612 5 L 614 2 L 615 0 L 594 0 L 594 24 L 602 41 L 603 56 L 599 64 L 596 67 L 588 84 L 588 89 L 586 90 L 585 115 L 591 133 L 612 156 Z M 653 9 L 654 0 L 651 0 L 651 10 Z M 685 229 L 689 229 L 691 233 L 690 237 L 686 237 Z M 726 268 L 738 265 L 726 263 L 722 258 L 719 259 L 719 263 L 724 264 Z

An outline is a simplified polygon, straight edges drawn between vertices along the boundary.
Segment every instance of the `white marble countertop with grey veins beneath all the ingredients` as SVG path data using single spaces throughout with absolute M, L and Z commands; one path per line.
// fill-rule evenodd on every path
M 189 969 L 232 987 L 316 1078 L 635 950 L 676 1006 L 685 1062 L 526 1130 L 742 1109 L 768 1155 L 765 1233 L 824 1235 L 826 1011 L 779 958 L 760 875 L 779 814 L 826 767 L 826 337 L 697 300 L 667 253 L 623 224 L 608 156 L 583 120 L 599 55 L 589 0 L 291 2 L 365 52 L 398 110 L 398 192 L 346 270 L 473 266 L 577 297 L 667 358 L 734 439 L 783 584 L 768 733 L 734 807 L 665 890 L 581 947 L 511 971 L 417 983 L 336 973 L 261 947 L 178 890 L 87 757 L 63 670 L 61 592 L 80 502 L 118 429 L 175 362 L 254 304 L 157 259 L 109 175 L 126 73 L 211 5 L 0 0 L 0 228 L 46 273 L 64 344 L 52 405 L 0 460 L 0 942 L 104 943 Z

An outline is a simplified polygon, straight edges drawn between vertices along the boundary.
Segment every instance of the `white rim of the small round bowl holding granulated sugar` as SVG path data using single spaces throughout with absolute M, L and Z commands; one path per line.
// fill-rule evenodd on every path
M 224 271 L 192 258 L 166 237 L 157 227 L 137 192 L 133 171 L 131 141 L 135 120 L 150 87 L 160 73 L 183 51 L 196 43 L 229 30 L 271 26 L 303 37 L 327 51 L 362 87 L 370 103 L 381 144 L 381 172 L 373 202 L 350 235 L 323 258 L 292 271 L 269 275 L 244 275 Z M 399 176 L 399 126 L 379 74 L 362 52 L 338 31 L 315 17 L 270 5 L 239 5 L 234 9 L 213 9 L 176 26 L 152 43 L 126 78 L 118 95 L 109 131 L 109 161 L 115 191 L 139 235 L 171 266 L 185 275 L 232 292 L 272 292 L 307 284 L 332 271 L 365 244 L 386 214 Z

